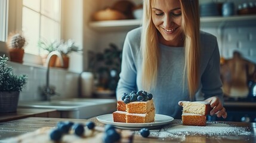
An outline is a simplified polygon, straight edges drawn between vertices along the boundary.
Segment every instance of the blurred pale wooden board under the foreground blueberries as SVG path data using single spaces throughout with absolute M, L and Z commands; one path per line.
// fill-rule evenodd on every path
M 48 143 L 54 142 L 50 139 L 50 130 L 55 127 L 44 127 L 34 132 L 25 133 L 15 138 L 8 139 L 6 142 L 18 142 L 18 143 Z M 132 142 L 133 133 L 131 130 L 116 129 L 121 134 L 121 142 Z M 85 128 L 84 136 L 77 136 L 70 131 L 70 133 L 62 136 L 61 142 L 64 143 L 84 143 L 84 142 L 102 142 L 104 135 L 104 128 L 96 126 L 94 130 Z

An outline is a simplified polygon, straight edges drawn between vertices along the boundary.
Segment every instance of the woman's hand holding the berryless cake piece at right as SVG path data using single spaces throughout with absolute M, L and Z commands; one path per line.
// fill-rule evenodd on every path
M 211 107 L 213 108 L 210 111 L 211 116 L 216 114 L 217 117 L 223 117 L 224 119 L 226 119 L 227 117 L 227 112 L 226 112 L 226 108 L 223 107 L 220 98 L 218 97 L 210 97 L 208 99 L 205 100 L 206 102 L 210 102 Z

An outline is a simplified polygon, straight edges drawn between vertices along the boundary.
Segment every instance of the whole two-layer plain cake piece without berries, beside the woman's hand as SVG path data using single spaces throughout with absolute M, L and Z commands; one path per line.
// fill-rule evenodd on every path
M 182 101 L 183 113 L 181 119 L 183 125 L 206 126 L 206 115 L 211 111 L 209 102 L 203 101 Z

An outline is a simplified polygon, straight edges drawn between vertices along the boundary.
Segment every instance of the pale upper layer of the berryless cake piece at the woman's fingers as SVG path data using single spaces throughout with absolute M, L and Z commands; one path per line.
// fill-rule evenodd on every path
M 183 107 L 183 113 L 193 113 L 193 114 L 202 114 L 206 115 L 209 114 L 211 111 L 211 105 L 209 102 L 203 102 L 203 101 L 183 101 L 181 103 Z

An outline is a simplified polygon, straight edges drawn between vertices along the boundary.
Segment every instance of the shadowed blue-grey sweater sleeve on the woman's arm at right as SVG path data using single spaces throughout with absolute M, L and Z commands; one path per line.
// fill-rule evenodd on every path
M 201 82 L 202 93 L 205 99 L 216 96 L 223 101 L 222 82 L 220 79 L 220 52 L 217 41 L 215 42 L 211 58 L 202 74 Z

